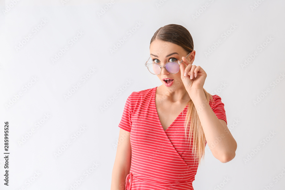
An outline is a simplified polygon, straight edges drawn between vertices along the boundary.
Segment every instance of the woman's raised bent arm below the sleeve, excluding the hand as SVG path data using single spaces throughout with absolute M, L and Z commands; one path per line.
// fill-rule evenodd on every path
M 207 102 L 203 90 L 192 92 L 191 99 L 213 156 L 222 163 L 231 161 L 235 157 L 237 142 L 229 131 L 226 122 L 217 118 Z

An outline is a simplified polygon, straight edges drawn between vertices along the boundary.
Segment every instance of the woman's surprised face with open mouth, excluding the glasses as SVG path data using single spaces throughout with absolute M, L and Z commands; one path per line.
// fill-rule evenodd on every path
M 188 60 L 190 60 L 190 55 L 187 57 Z M 171 42 L 164 42 L 162 40 L 154 40 L 150 44 L 150 57 L 152 60 L 154 60 L 155 63 L 158 63 L 160 65 L 164 65 L 167 62 L 172 62 L 172 61 L 175 62 L 181 61 L 182 56 L 186 57 L 187 52 L 179 45 L 173 44 Z M 184 67 L 186 67 L 185 64 Z M 184 87 L 181 80 L 180 68 L 178 73 L 172 74 L 169 73 L 163 67 L 161 72 L 156 76 L 158 76 L 158 78 L 160 79 L 162 84 L 165 85 L 166 88 L 177 90 Z M 171 80 L 169 80 L 170 82 L 167 83 L 164 79 L 171 79 Z

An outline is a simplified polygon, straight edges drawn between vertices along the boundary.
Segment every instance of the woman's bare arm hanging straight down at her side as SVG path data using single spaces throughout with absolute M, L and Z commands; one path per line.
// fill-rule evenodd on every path
M 112 171 L 111 190 L 125 190 L 126 177 L 131 169 L 130 132 L 120 128 L 115 163 Z

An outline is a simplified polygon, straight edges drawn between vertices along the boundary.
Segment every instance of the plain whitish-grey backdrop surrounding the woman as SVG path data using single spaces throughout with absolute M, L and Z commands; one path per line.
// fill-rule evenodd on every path
M 284 189 L 284 1 L 63 2 L 1 1 L 0 189 L 67 190 L 81 177 L 84 181 L 75 189 L 110 189 L 127 97 L 161 85 L 144 63 L 152 35 L 166 24 L 190 31 L 194 64 L 207 73 L 204 88 L 221 97 L 237 141 L 236 156 L 228 163 L 214 158 L 206 146 L 194 189 Z M 230 31 L 232 25 L 236 28 Z M 83 32 L 80 37 L 78 31 Z M 124 36 L 127 40 L 118 44 Z M 219 39 L 221 44 L 212 47 Z M 266 47 L 260 49 L 263 43 Z M 209 48 L 214 50 L 206 56 Z M 242 67 L 245 59 L 250 62 Z M 88 74 L 91 68 L 96 71 Z M 89 78 L 81 80 L 84 76 Z M 101 110 L 105 103 L 109 105 Z M 8 187 L 3 185 L 6 121 Z M 78 132 L 81 126 L 85 130 Z M 76 132 L 80 135 L 74 138 Z M 60 148 L 65 150 L 60 153 Z M 86 170 L 92 172 L 86 175 Z

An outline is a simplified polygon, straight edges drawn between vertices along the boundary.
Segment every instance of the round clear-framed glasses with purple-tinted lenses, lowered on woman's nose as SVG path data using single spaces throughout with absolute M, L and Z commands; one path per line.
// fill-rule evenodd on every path
M 186 57 L 188 57 L 190 54 L 191 52 Z M 158 75 L 161 72 L 162 67 L 164 67 L 169 73 L 175 74 L 175 73 L 178 73 L 178 71 L 180 70 L 180 64 L 182 62 L 183 62 L 182 60 L 173 61 L 173 62 L 167 62 L 164 65 L 160 65 L 160 64 L 154 63 L 151 57 L 149 57 L 144 65 L 147 67 L 148 71 L 154 75 Z

